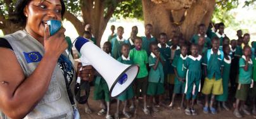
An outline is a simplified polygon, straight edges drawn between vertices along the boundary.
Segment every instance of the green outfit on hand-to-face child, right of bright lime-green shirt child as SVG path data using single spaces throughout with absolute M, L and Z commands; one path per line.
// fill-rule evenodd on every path
M 165 61 L 162 55 L 160 55 L 161 59 Z M 148 76 L 148 90 L 147 94 L 150 96 L 156 96 L 163 94 L 164 87 L 163 87 L 163 81 L 164 81 L 164 73 L 163 73 L 163 65 L 161 61 L 158 62 L 157 69 L 154 70 L 153 66 L 157 62 L 157 57 L 151 53 L 148 62 L 150 65 L 150 73 Z

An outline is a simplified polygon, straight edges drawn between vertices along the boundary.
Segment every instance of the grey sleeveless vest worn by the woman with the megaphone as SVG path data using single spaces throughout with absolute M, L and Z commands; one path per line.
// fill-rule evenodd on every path
M 6 39 L 16 55 L 25 77 L 29 77 L 39 65 L 40 61 L 28 63 L 24 53 L 37 52 L 44 56 L 44 46 L 27 34 L 25 30 L 19 30 L 13 34 L 5 35 Z M 67 53 L 63 53 L 67 56 Z M 75 76 L 74 76 L 75 77 Z M 73 80 L 74 81 L 74 80 Z M 65 78 L 58 65 L 55 66 L 48 91 L 34 110 L 25 116 L 25 119 L 39 118 L 74 118 L 74 110 L 68 98 Z

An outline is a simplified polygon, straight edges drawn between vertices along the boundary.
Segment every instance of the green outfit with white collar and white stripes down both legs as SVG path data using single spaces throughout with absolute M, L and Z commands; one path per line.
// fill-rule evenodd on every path
M 202 56 L 198 55 L 197 58 L 189 55 L 186 58 L 185 67 L 187 69 L 186 73 L 186 87 L 184 93 L 186 94 L 186 99 L 196 99 L 198 92 L 201 87 L 201 77 L 202 77 Z M 192 94 L 193 87 L 195 85 L 195 94 Z

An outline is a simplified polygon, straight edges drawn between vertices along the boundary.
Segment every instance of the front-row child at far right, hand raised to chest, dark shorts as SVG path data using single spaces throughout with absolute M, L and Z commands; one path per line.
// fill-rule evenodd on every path
M 250 112 L 245 109 L 245 101 L 248 96 L 249 88 L 253 86 L 253 63 L 250 58 L 251 53 L 252 51 L 250 46 L 243 47 L 243 56 L 239 60 L 239 84 L 238 89 L 236 90 L 236 108 L 233 113 L 234 116 L 238 118 L 242 117 L 240 110 L 246 115 L 250 115 Z

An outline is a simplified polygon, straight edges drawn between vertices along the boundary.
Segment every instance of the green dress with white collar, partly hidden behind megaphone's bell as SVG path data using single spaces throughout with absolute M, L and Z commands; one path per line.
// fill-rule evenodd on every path
M 124 63 L 124 64 L 127 64 L 127 65 L 132 65 L 133 64 L 133 61 L 130 60 L 130 58 L 125 58 L 123 55 L 121 57 L 119 57 L 117 59 L 117 61 L 119 61 L 120 63 Z M 122 92 L 122 94 L 120 94 L 120 96 L 117 97 L 118 100 L 120 101 L 126 101 L 127 99 L 132 99 L 132 97 L 134 97 L 134 92 L 133 92 L 133 89 L 132 89 L 132 84 L 127 87 L 127 90 Z

